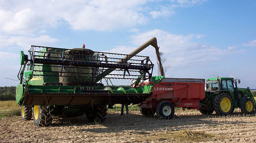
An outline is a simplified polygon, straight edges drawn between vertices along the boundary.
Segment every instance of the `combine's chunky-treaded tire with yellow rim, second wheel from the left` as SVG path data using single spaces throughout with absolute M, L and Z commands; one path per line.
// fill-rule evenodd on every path
M 51 106 L 34 106 L 33 107 L 33 120 L 34 124 L 39 127 L 48 127 L 52 125 L 53 121 L 53 108 Z

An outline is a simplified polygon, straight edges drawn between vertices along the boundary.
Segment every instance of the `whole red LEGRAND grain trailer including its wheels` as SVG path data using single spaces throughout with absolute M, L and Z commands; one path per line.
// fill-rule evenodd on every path
M 174 107 L 200 109 L 199 100 L 205 98 L 204 79 L 164 78 L 153 87 L 153 94 L 139 107 L 143 115 L 154 115 L 171 118 Z M 152 84 L 143 82 L 142 86 Z

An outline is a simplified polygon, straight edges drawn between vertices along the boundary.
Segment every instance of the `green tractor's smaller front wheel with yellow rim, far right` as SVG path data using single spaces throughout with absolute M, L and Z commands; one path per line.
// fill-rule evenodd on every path
M 252 114 L 254 110 L 254 102 L 248 96 L 244 96 L 240 99 L 239 108 L 245 114 Z

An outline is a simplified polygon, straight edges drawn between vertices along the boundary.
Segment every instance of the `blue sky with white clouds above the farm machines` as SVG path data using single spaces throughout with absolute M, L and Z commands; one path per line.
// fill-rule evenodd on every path
M 16 86 L 30 45 L 130 53 L 152 37 L 166 77 L 241 79 L 256 89 L 256 1 L 0 0 L 0 86 Z M 139 55 L 150 56 L 154 48 Z

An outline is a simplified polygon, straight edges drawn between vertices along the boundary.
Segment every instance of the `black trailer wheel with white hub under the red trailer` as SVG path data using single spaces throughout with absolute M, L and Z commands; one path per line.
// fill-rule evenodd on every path
M 174 115 L 174 106 L 169 101 L 162 101 L 156 106 L 156 115 L 159 118 L 171 119 Z

